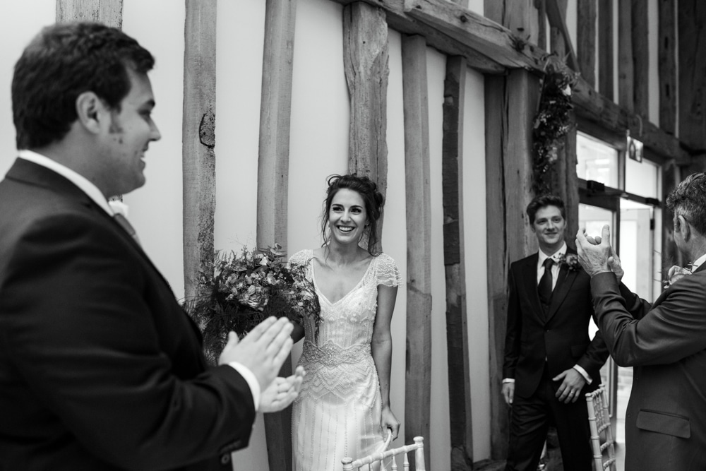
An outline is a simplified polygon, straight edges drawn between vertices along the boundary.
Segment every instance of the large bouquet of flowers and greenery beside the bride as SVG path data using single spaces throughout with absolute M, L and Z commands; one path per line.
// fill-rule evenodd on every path
M 217 363 L 229 331 L 243 338 L 269 316 L 285 316 L 304 326 L 313 318 L 318 335 L 321 306 L 305 267 L 287 263 L 282 247 L 244 248 L 240 254 L 216 252 L 213 272 L 198 277 L 200 295 L 184 309 L 201 328 L 206 358 Z

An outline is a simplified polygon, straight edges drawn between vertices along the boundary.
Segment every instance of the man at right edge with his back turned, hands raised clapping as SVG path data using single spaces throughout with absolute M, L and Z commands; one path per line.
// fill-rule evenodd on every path
M 608 349 L 617 364 L 633 366 L 626 471 L 706 470 L 706 174 L 687 177 L 666 205 L 674 242 L 692 262 L 672 267 L 680 279 L 654 304 L 618 285 L 623 270 L 608 226 L 598 241 L 582 231 L 576 239 Z

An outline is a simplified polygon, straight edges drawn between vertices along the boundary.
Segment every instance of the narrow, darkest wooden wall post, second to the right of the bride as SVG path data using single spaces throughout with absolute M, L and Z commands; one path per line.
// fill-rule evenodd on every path
M 463 109 L 466 68 L 466 61 L 460 56 L 446 59 L 441 156 L 451 469 L 454 471 L 472 470 L 473 467 L 463 236 Z

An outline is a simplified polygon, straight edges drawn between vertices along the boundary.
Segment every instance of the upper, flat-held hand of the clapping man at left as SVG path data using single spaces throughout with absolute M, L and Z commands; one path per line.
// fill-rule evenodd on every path
M 284 317 L 265 319 L 240 341 L 231 332 L 218 364 L 239 362 L 253 372 L 261 390 L 266 390 L 292 350 L 291 333 L 292 323 Z

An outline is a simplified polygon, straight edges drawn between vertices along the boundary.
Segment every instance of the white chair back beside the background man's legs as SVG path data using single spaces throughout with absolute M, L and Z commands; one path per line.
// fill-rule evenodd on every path
M 608 398 L 603 385 L 586 395 L 586 406 L 595 471 L 616 471 L 615 440 L 608 413 Z M 604 459 L 604 453 L 606 453 L 606 459 Z

